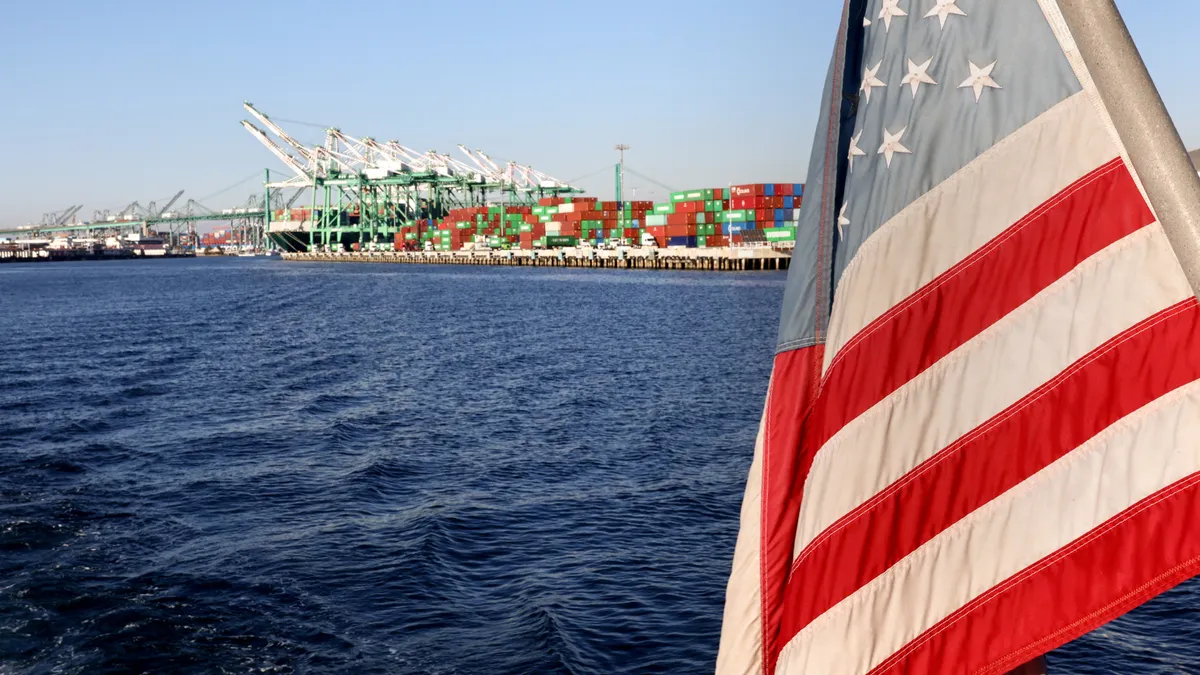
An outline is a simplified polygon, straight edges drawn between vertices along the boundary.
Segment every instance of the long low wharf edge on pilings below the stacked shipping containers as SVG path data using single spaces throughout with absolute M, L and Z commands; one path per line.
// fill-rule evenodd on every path
M 324 263 L 409 263 L 583 269 L 690 271 L 774 271 L 792 257 L 768 247 L 635 249 L 629 251 L 551 249 L 511 251 L 342 251 L 283 253 L 284 261 Z

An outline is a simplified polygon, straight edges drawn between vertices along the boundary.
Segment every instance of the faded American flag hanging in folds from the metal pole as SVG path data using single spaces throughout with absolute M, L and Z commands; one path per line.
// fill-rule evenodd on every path
M 1004 673 L 1200 572 L 1200 304 L 1094 74 L 1056 0 L 847 0 L 718 673 Z

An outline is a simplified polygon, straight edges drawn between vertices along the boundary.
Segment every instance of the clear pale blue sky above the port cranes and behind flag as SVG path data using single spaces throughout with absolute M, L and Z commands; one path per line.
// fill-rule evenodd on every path
M 978 1 L 978 0 L 968 0 Z M 1200 145 L 1195 0 L 1118 0 L 1184 142 Z M 6 2 L 0 225 L 186 189 L 210 207 L 282 168 L 268 114 L 416 149 L 458 143 L 612 192 L 803 180 L 840 0 Z M 284 125 L 305 141 L 319 130 Z M 245 183 L 215 197 L 211 195 Z M 634 178 L 640 198 L 664 191 Z M 204 201 L 204 199 L 202 199 Z

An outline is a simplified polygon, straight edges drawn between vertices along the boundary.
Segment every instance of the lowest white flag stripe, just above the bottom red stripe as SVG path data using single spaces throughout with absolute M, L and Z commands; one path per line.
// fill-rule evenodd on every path
M 1200 472 L 1196 437 L 1200 382 L 1114 424 L 929 540 L 802 631 L 784 647 L 778 673 L 868 673 L 973 598 Z

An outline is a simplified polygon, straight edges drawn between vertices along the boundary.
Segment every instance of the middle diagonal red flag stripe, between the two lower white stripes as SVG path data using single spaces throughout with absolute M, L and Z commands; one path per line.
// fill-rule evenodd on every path
M 967 514 L 1112 423 L 1200 380 L 1200 303 L 1117 335 L 821 533 L 797 557 L 784 644 Z M 853 561 L 853 565 L 846 565 Z

